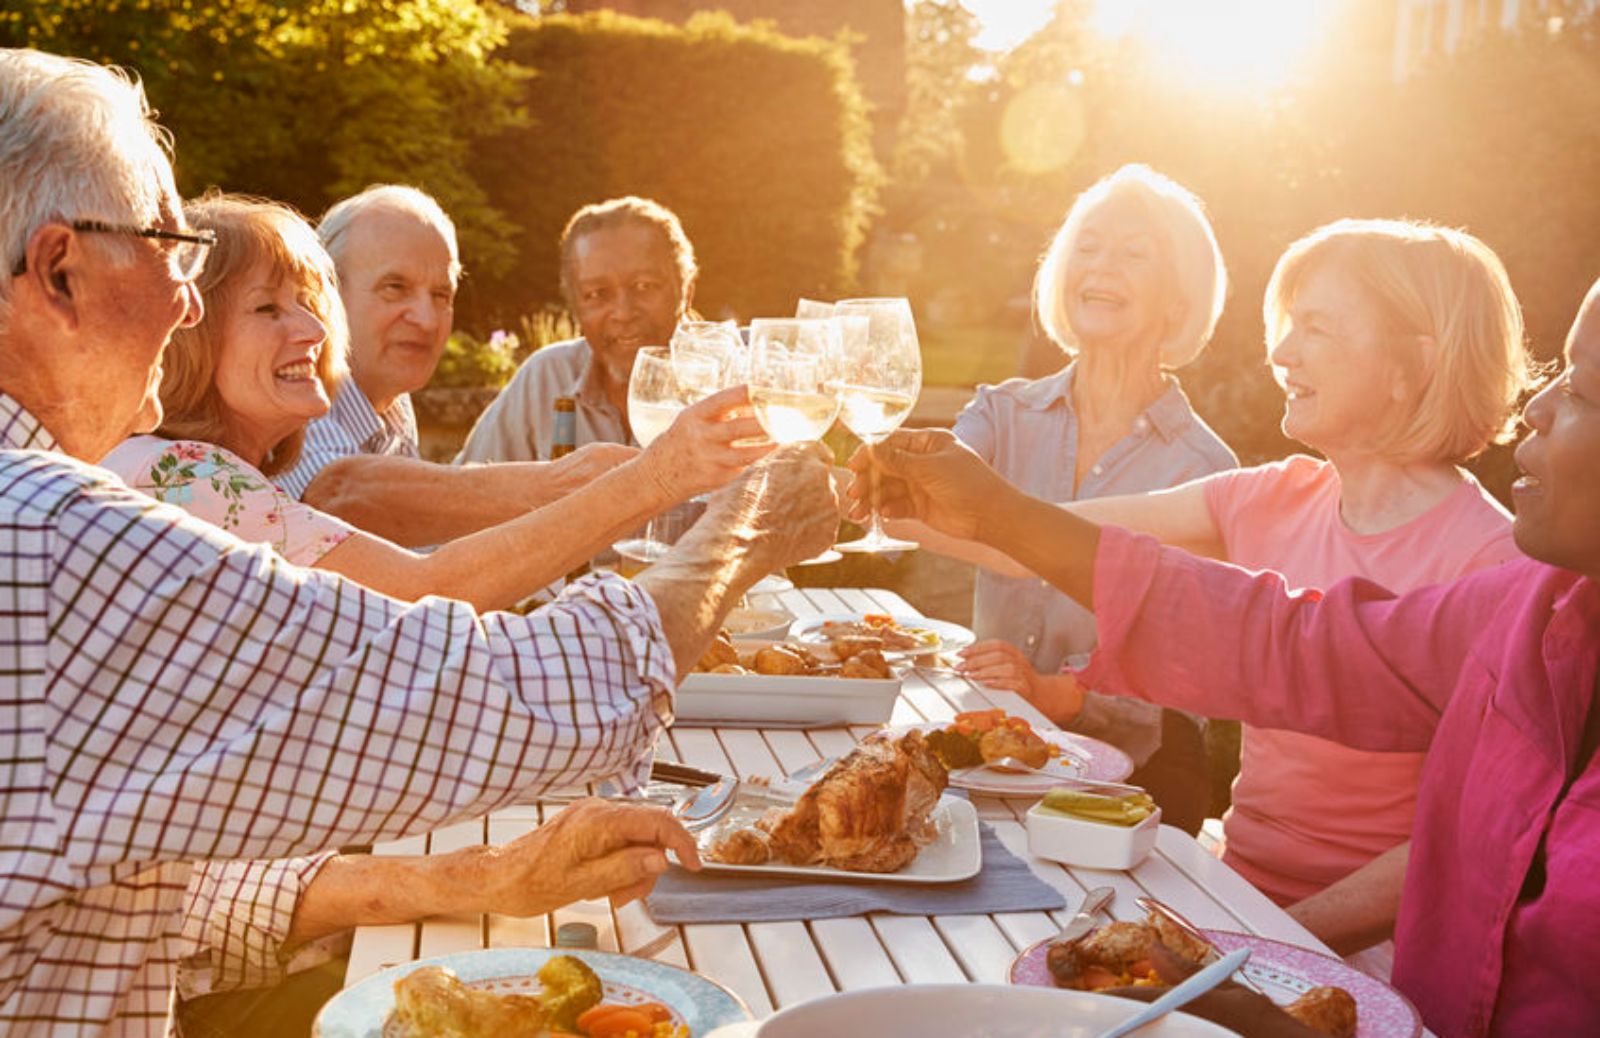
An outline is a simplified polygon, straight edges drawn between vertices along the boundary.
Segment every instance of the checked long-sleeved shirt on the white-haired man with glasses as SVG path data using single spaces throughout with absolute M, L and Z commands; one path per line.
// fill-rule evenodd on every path
M 162 1035 L 208 921 L 298 896 L 246 876 L 254 904 L 208 907 L 186 860 L 643 779 L 674 662 L 632 584 L 528 617 L 400 603 L 53 448 L 0 395 L 0 1032 Z

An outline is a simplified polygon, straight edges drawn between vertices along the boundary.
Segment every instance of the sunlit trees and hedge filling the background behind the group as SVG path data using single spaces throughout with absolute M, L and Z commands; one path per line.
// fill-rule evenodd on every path
M 930 384 L 1038 374 L 1061 363 L 1029 317 L 1040 250 L 1078 190 L 1146 162 L 1206 202 L 1227 256 L 1227 310 L 1182 381 L 1246 462 L 1291 449 L 1261 294 L 1312 227 L 1413 216 L 1472 230 L 1504 258 L 1546 358 L 1600 273 L 1586 0 L 1525 3 L 1515 27 L 1403 78 L 1397 5 L 1328 0 L 1339 14 L 1270 90 L 1186 78 L 1149 38 L 1096 30 L 1104 0 L 1061 0 L 1005 53 L 976 45 L 955 0 L 853 3 L 829 10 L 856 29 L 818 37 L 834 22 L 808 6 L 813 35 L 797 38 L 779 30 L 800 18 L 782 5 L 768 5 L 778 21 L 736 21 L 690 0 L 622 5 L 672 21 L 568 13 L 598 0 L 29 0 L 0 11 L 0 45 L 136 69 L 189 194 L 216 184 L 317 214 L 376 181 L 434 192 L 469 269 L 458 323 L 472 342 L 518 331 L 523 349 L 539 334 L 523 315 L 560 304 L 570 213 L 642 194 L 682 214 L 709 315 L 909 294 Z M 867 10 L 893 38 L 869 38 Z M 885 99 L 888 78 L 904 82 Z M 488 360 L 477 368 L 502 368 Z M 1504 451 L 1478 465 L 1496 491 L 1507 469 Z

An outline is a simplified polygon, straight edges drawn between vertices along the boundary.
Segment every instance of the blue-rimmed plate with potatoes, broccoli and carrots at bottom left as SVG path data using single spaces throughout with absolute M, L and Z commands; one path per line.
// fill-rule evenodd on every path
M 611 952 L 486 948 L 376 972 L 334 995 L 312 1035 L 702 1038 L 749 1019 L 738 995 L 667 963 Z

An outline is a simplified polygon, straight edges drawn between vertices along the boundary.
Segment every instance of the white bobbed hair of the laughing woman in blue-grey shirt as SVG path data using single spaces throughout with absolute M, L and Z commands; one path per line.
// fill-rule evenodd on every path
M 1077 349 L 1062 291 L 1066 265 L 1083 230 L 1083 221 L 1112 198 L 1133 198 L 1155 222 L 1162 254 L 1173 273 L 1173 288 L 1182 302 L 1182 318 L 1168 329 L 1162 342 L 1162 366 L 1181 368 L 1198 357 L 1211 341 L 1216 320 L 1222 315 L 1222 301 L 1227 297 L 1227 267 L 1200 198 L 1182 184 L 1141 163 L 1126 165 L 1101 178 L 1072 203 L 1034 278 L 1034 309 L 1038 321 L 1062 350 L 1070 353 Z

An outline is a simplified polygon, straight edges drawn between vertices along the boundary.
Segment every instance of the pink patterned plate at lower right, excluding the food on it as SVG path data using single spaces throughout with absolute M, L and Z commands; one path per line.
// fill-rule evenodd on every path
M 1405 995 L 1331 955 L 1254 934 L 1203 932 L 1224 955 L 1250 948 L 1245 976 L 1278 1004 L 1291 1003 L 1314 987 L 1342 987 L 1355 1000 L 1355 1038 L 1418 1038 L 1422 1033 L 1422 1017 Z M 1050 940 L 1029 945 L 1011 961 L 1011 984 L 1054 987 L 1045 966 Z

